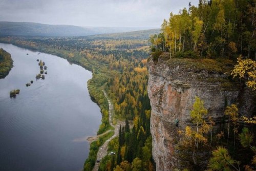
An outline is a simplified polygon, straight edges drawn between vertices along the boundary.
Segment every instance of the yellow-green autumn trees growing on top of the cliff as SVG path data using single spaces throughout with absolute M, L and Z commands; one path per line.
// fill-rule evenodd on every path
M 256 58 L 256 2 L 253 0 L 200 0 L 170 13 L 162 33 L 150 37 L 152 51 L 167 51 L 170 57 L 236 59 Z M 192 55 L 191 55 L 192 54 Z

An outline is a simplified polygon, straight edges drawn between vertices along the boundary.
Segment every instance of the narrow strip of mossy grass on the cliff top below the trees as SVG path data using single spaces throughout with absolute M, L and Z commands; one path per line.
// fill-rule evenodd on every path
M 169 59 L 169 53 L 162 53 L 159 56 L 160 61 L 165 61 L 169 67 L 180 66 L 186 70 L 193 70 L 199 72 L 205 70 L 211 73 L 231 73 L 234 62 L 229 59 L 217 58 L 217 59 L 189 59 L 189 58 L 172 58 Z

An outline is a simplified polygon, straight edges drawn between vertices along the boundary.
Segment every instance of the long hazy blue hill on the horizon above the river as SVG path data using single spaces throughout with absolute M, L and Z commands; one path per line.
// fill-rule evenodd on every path
M 25 22 L 0 22 L 0 35 L 14 36 L 88 36 L 120 33 L 150 28 L 140 27 L 79 27 L 71 25 L 47 25 Z

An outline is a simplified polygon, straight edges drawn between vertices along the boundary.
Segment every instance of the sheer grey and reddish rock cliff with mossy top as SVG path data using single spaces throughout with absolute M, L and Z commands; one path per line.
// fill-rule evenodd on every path
M 208 115 L 216 122 L 223 117 L 225 104 L 239 104 L 243 115 L 250 115 L 254 110 L 253 96 L 230 79 L 231 61 L 168 59 L 167 55 L 161 55 L 158 62 L 149 58 L 147 66 L 153 158 L 157 170 L 180 167 L 176 150 L 177 129 L 191 124 L 190 111 L 195 96 L 204 100 Z M 179 120 L 178 127 L 176 119 Z M 203 161 L 201 164 L 206 165 Z

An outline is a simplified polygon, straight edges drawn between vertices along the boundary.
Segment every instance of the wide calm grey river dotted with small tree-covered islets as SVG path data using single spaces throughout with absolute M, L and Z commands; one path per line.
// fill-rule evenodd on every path
M 96 134 L 101 119 L 87 89 L 91 72 L 57 56 L 0 48 L 14 60 L 0 79 L 0 170 L 81 170 L 89 154 L 84 139 Z M 36 59 L 48 67 L 45 80 L 35 79 Z M 13 89 L 20 89 L 16 98 L 9 97 Z

